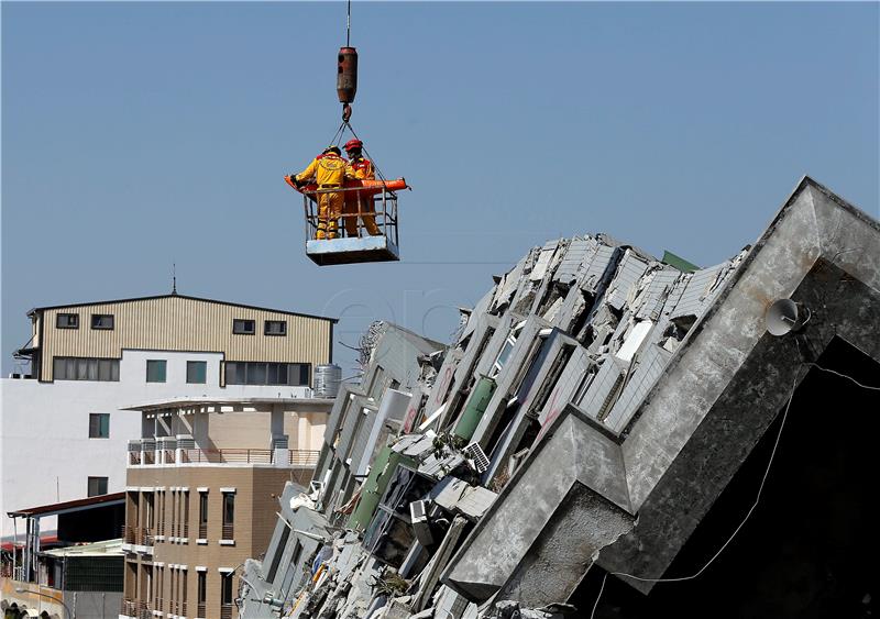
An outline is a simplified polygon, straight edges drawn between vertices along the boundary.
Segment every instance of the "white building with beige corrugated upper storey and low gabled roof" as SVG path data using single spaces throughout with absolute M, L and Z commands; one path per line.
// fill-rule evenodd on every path
M 30 360 L 30 373 L 2 380 L 6 542 L 9 511 L 125 487 L 128 440 L 142 428 L 124 407 L 177 397 L 311 397 L 316 368 L 331 363 L 336 323 L 176 294 L 28 316 L 32 338 L 16 356 Z

